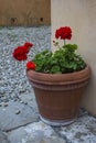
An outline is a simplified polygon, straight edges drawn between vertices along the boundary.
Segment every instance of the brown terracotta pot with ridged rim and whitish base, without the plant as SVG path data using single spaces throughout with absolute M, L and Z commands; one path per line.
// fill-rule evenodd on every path
M 82 92 L 88 82 L 89 66 L 72 74 L 42 74 L 26 70 L 34 89 L 40 118 L 50 125 L 72 123 L 78 113 Z

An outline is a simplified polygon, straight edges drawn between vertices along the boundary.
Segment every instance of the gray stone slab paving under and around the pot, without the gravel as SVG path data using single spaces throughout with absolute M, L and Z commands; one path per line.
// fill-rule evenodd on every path
M 76 122 L 54 128 L 39 119 L 33 90 L 20 98 L 0 107 L 0 143 L 96 143 L 96 118 L 87 111 L 79 110 Z

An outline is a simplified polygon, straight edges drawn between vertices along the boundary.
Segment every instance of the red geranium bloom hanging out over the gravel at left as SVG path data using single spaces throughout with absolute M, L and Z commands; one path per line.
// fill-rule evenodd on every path
M 28 58 L 26 54 L 29 53 L 30 47 L 32 46 L 33 44 L 29 42 L 24 43 L 24 45 L 22 46 L 18 46 L 12 53 L 13 57 L 17 61 L 25 61 Z

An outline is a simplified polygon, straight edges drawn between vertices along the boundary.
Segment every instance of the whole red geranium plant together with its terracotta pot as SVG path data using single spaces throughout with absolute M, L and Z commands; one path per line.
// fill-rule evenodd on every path
M 76 53 L 76 44 L 66 44 L 72 38 L 70 26 L 56 30 L 53 44 L 58 48 L 54 53 L 44 50 L 26 63 L 26 76 L 34 89 L 40 118 L 50 125 L 66 125 L 75 121 L 83 90 L 90 77 L 90 68 Z M 13 52 L 18 61 L 26 59 L 33 44 L 26 42 Z

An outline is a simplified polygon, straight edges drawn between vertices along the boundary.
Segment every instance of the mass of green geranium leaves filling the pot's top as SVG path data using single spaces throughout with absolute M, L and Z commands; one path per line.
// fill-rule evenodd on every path
M 35 70 L 50 74 L 74 73 L 85 68 L 86 64 L 76 53 L 76 44 L 66 44 L 52 53 L 47 50 L 35 55 Z

